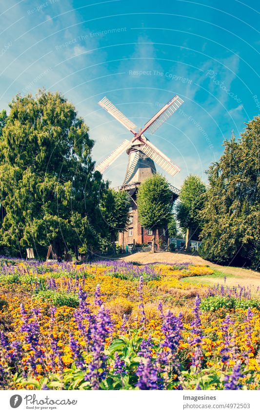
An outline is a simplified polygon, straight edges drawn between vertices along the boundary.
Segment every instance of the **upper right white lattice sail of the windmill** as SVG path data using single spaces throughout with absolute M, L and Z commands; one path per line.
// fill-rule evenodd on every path
M 143 127 L 141 134 L 148 131 L 153 134 L 168 118 L 170 118 L 177 109 L 180 108 L 184 101 L 178 95 L 175 95 L 166 105 L 164 105 L 157 114 L 151 118 Z

